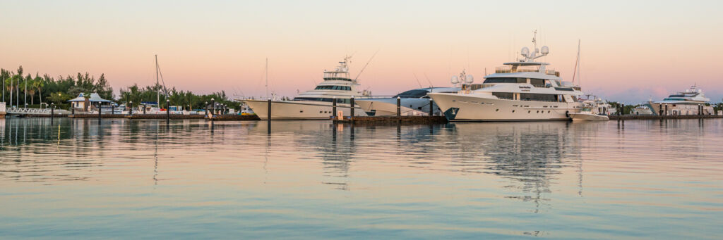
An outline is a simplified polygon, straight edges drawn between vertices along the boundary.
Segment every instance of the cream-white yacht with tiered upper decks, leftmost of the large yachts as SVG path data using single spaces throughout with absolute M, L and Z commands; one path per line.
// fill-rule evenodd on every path
M 344 58 L 333 71 L 324 71 L 324 81 L 315 89 L 303 92 L 293 100 L 272 101 L 271 119 L 329 119 L 333 116 L 333 101 L 337 102 L 337 112 L 342 111 L 344 116 L 350 115 L 350 98 L 368 98 L 369 92 L 361 90 L 359 80 L 349 76 L 348 60 L 349 57 Z M 262 120 L 268 119 L 268 100 L 244 99 L 241 102 L 246 102 Z M 356 108 L 354 115 L 367 114 L 361 108 Z

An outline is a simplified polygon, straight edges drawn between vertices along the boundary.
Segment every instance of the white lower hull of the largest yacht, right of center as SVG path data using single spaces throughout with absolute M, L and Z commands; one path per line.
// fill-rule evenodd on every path
M 581 102 L 538 102 L 492 99 L 475 94 L 429 94 L 450 121 L 570 120 Z

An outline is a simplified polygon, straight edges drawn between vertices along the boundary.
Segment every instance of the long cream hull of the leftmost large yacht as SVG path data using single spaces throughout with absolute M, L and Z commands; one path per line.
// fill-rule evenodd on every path
M 268 102 L 265 100 L 243 100 L 261 118 L 268 119 Z M 323 120 L 333 116 L 332 102 L 317 101 L 273 101 L 271 102 L 271 120 Z M 337 103 L 336 111 L 344 116 L 351 114 L 348 104 Z M 366 116 L 364 110 L 354 108 L 355 116 Z

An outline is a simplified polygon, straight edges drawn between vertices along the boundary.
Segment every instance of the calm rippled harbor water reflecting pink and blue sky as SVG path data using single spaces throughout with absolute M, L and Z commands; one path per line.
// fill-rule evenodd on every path
M 723 120 L 0 120 L 3 238 L 723 238 Z

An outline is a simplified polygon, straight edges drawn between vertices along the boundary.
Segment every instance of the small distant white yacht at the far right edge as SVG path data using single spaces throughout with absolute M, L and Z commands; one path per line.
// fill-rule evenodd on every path
M 648 102 L 647 106 L 654 115 L 712 115 L 713 107 L 706 106 L 711 99 L 703 95 L 697 86 L 690 86 L 683 92 L 677 92 L 662 101 Z

